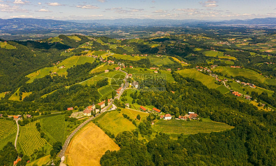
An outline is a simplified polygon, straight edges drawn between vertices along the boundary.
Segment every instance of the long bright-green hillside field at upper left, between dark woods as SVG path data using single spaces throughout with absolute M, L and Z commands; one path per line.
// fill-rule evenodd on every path
M 93 63 L 95 61 L 95 58 L 92 57 L 86 57 L 86 56 L 71 56 L 64 61 L 62 61 L 60 64 L 57 66 L 52 66 L 52 67 L 46 67 L 43 69 L 40 69 L 38 71 L 32 72 L 26 77 L 30 78 L 27 83 L 33 82 L 34 79 L 37 78 L 43 78 L 46 75 L 50 74 L 51 72 L 56 72 L 58 75 L 67 75 L 67 69 L 72 68 L 74 65 L 81 65 L 86 62 L 88 63 Z M 57 67 L 64 66 L 65 68 L 63 69 L 58 69 Z

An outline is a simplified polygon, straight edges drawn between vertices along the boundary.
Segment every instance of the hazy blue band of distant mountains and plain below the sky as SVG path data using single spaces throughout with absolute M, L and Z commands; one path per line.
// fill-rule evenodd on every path
M 44 20 L 44 19 L 0 19 L 0 36 L 39 36 L 42 34 L 91 34 L 98 31 L 112 31 L 118 29 L 143 30 L 143 26 L 150 27 L 207 27 L 215 26 L 251 26 L 254 27 L 276 27 L 276 18 L 251 19 L 251 20 L 154 20 L 154 19 L 115 19 L 115 20 Z M 135 27 L 133 27 L 135 26 Z M 158 29 L 158 28 L 157 28 Z M 52 35 L 53 36 L 53 35 Z M 37 38 L 37 37 L 36 37 Z M 7 38 L 6 38 L 7 39 Z M 10 40 L 15 38 L 8 38 Z M 20 38 L 24 39 L 24 38 Z

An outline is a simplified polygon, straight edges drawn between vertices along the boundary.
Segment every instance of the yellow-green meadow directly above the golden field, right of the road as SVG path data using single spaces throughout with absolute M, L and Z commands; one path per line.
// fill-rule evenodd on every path
M 115 136 L 120 132 L 136 129 L 136 126 L 132 124 L 131 121 L 123 117 L 123 113 L 127 114 L 131 119 L 136 119 L 138 114 L 140 115 L 141 119 L 148 116 L 148 114 L 144 112 L 134 111 L 130 109 L 122 109 L 120 113 L 118 111 L 107 112 L 95 119 L 95 121 L 103 130 L 109 131 Z M 139 123 L 138 120 L 136 120 L 136 122 L 137 124 Z

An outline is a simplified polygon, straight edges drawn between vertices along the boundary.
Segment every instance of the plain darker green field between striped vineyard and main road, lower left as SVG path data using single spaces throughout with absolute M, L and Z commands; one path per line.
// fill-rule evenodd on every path
M 50 114 L 51 115 L 51 114 Z M 66 126 L 64 115 L 57 115 L 40 120 L 41 128 L 53 142 L 64 142 L 66 138 Z

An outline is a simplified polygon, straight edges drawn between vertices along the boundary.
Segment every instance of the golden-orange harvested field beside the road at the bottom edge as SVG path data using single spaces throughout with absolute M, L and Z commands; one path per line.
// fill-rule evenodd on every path
M 100 166 L 101 157 L 107 150 L 119 149 L 108 135 L 90 122 L 70 142 L 65 152 L 66 165 Z

